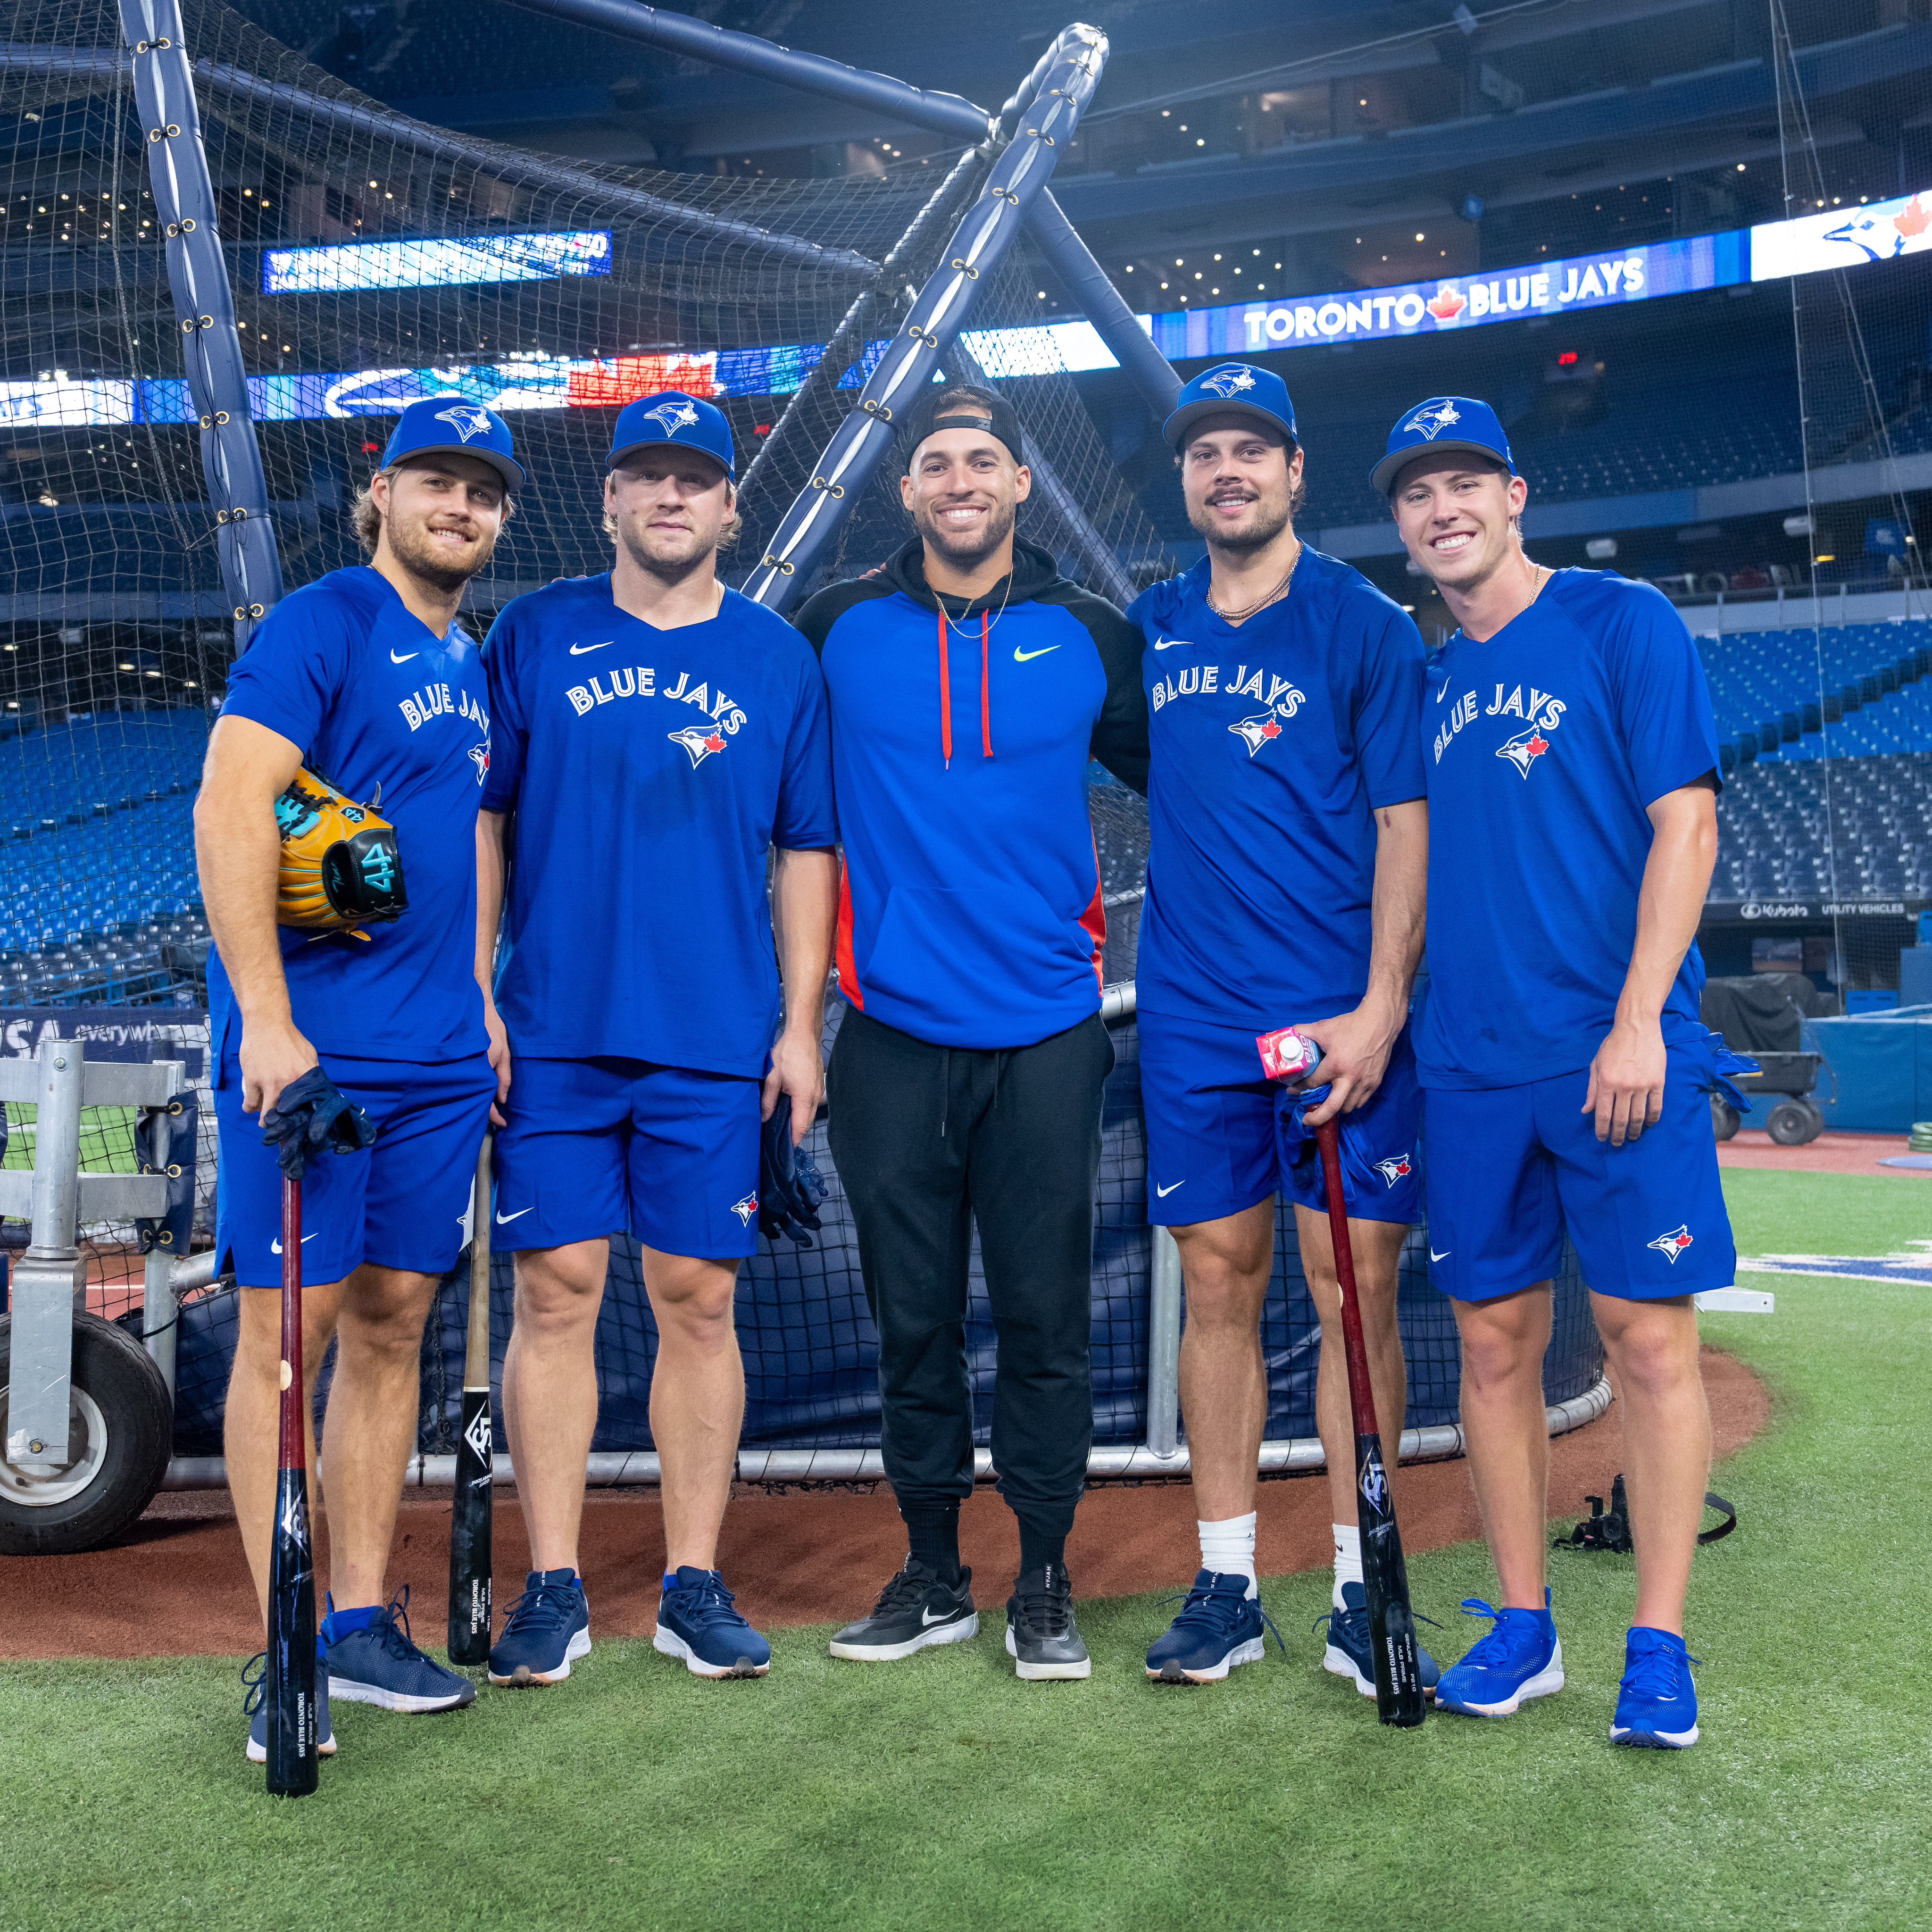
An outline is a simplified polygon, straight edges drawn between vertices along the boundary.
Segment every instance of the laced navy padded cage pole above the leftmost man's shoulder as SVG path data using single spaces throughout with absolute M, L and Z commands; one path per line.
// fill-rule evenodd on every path
M 269 477 L 249 413 L 242 332 L 214 228 L 214 184 L 201 145 L 195 77 L 182 44 L 180 0 L 120 0 L 133 54 L 133 97 L 147 131 L 147 180 L 168 242 L 168 288 L 182 325 L 187 394 L 201 425 L 201 473 L 214 506 L 236 655 L 282 601 L 282 556 L 269 516 Z

